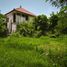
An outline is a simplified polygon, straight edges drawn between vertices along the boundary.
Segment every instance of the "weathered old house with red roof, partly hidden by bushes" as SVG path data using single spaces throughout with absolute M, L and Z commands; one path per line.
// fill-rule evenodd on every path
M 35 15 L 24 8 L 16 8 L 5 14 L 9 33 L 15 32 L 17 24 L 31 21 Z

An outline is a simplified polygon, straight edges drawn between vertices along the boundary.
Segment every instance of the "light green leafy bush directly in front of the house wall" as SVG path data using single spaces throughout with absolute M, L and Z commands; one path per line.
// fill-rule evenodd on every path
M 33 36 L 34 27 L 32 22 L 22 22 L 17 26 L 17 31 L 23 36 Z

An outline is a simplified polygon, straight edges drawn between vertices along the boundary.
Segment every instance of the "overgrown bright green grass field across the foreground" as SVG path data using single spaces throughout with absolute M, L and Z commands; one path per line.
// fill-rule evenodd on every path
M 67 36 L 0 38 L 0 67 L 67 67 Z

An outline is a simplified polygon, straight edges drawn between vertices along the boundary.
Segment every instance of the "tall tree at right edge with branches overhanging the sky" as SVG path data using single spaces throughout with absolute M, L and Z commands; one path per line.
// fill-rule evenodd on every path
M 55 7 L 61 7 L 60 12 L 58 13 L 58 22 L 56 25 L 56 29 L 54 27 L 50 28 L 53 33 L 58 32 L 59 34 L 67 34 L 67 0 L 45 0 L 46 2 L 49 1 Z M 52 17 L 53 19 L 53 17 Z M 52 21 L 51 21 L 52 22 Z

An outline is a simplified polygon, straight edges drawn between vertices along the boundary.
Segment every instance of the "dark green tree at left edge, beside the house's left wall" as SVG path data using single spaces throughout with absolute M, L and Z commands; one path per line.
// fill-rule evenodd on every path
M 0 36 L 5 36 L 7 31 L 6 17 L 0 14 Z

